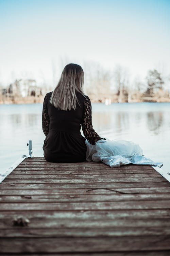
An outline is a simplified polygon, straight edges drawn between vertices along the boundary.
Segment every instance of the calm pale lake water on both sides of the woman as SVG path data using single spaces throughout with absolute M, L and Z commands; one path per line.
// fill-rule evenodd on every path
M 20 156 L 43 156 L 45 135 L 41 125 L 43 104 L 0 105 L 0 173 Z M 92 124 L 101 137 L 138 143 L 143 154 L 170 171 L 170 103 L 92 104 Z

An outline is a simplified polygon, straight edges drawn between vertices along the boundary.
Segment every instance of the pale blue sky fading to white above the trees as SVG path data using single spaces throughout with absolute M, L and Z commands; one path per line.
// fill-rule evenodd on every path
M 0 84 L 51 83 L 70 62 L 170 74 L 170 0 L 0 0 Z

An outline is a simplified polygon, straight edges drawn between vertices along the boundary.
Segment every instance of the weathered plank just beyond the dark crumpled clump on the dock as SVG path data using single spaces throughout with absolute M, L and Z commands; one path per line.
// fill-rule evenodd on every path
M 170 209 L 140 209 L 140 210 L 76 210 L 76 211 L 27 211 L 24 209 L 23 211 L 0 211 L 0 225 L 4 227 L 5 222 L 12 223 L 14 217 L 26 216 L 32 222 L 32 219 L 38 219 L 41 221 L 42 219 L 82 219 L 83 220 L 97 220 L 105 219 L 110 220 L 119 220 L 119 219 L 128 219 L 132 220 L 133 222 L 138 219 L 169 219 L 170 218 Z M 134 222 L 134 223 L 135 223 Z M 35 228 L 35 227 L 34 227 Z

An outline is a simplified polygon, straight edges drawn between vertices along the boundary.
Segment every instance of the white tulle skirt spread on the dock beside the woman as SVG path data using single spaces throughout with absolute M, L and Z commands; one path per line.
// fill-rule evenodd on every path
M 154 165 L 162 167 L 162 162 L 154 162 L 143 155 L 139 144 L 126 140 L 99 140 L 95 145 L 91 145 L 86 140 L 87 161 L 102 161 L 110 167 L 120 167 L 134 163 L 136 165 Z

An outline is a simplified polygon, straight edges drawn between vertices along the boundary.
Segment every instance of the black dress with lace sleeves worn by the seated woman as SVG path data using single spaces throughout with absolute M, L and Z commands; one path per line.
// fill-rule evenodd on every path
M 85 138 L 93 145 L 102 139 L 92 127 L 90 99 L 77 93 L 80 106 L 77 103 L 76 110 L 65 111 L 50 104 L 51 94 L 46 94 L 43 104 L 44 157 L 49 162 L 83 162 L 87 150 Z

